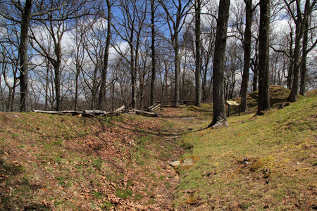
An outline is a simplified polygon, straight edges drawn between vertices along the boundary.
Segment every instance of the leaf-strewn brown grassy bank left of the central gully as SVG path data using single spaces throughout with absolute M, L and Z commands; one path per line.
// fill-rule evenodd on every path
M 0 113 L 0 122 L 0 210 L 168 207 L 156 195 L 175 176 L 163 162 L 179 154 L 173 136 L 157 135 L 165 120 Z

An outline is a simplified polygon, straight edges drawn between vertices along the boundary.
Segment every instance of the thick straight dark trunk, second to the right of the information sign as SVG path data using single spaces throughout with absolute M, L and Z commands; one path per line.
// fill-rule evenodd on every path
M 258 114 L 271 107 L 269 97 L 269 31 L 270 0 L 263 0 L 260 1 Z

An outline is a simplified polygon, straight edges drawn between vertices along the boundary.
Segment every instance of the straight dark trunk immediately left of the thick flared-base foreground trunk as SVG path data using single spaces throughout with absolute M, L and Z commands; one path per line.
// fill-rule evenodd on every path
M 201 106 L 201 0 L 195 0 L 195 50 L 196 50 L 196 70 L 195 70 L 195 106 Z

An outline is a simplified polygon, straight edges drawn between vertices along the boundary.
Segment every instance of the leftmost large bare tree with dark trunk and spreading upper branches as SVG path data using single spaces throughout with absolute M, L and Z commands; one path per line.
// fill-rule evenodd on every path
M 29 30 L 31 21 L 37 20 L 56 20 L 56 16 L 53 17 L 53 13 L 61 11 L 60 9 L 65 7 L 73 8 L 73 11 L 68 15 L 74 15 L 75 11 L 82 8 L 89 1 L 4 1 L 1 2 L 0 7 L 3 13 L 0 16 L 10 20 L 11 23 L 20 25 L 20 42 L 18 46 L 19 58 L 20 58 L 20 111 L 27 110 L 27 92 L 28 92 L 28 77 L 29 77 L 29 61 L 28 61 L 28 50 L 27 45 L 29 41 Z M 66 11 L 69 11 L 66 9 Z M 65 12 L 65 11 L 63 11 Z M 63 13 L 61 11 L 61 13 Z M 64 14 L 65 15 L 65 14 Z M 66 20 L 68 17 L 63 17 Z M 60 20 L 60 19 L 59 19 Z M 58 42 L 56 42 L 58 43 Z M 56 48 L 58 51 L 58 48 Z M 57 63 L 56 63 L 57 65 Z M 58 89 L 58 88 L 56 88 Z

